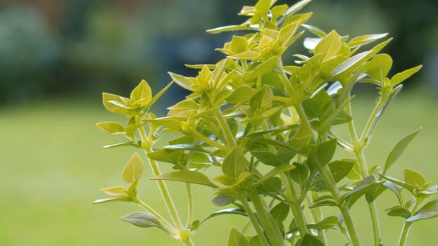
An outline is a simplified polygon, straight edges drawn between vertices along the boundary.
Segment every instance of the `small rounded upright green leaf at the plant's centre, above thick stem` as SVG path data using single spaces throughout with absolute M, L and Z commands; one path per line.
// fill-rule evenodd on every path
M 222 171 L 225 175 L 232 176 L 237 179 L 239 174 L 246 171 L 248 160 L 244 157 L 240 148 L 234 148 L 223 160 Z

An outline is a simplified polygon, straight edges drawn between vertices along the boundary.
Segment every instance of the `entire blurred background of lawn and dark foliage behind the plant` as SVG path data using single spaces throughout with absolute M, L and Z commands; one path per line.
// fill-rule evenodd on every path
M 118 219 L 139 210 L 134 205 L 91 205 L 104 197 L 99 188 L 123 185 L 120 171 L 135 151 L 101 148 L 118 139 L 94 124 L 119 119 L 101 106 L 101 91 L 126 95 L 141 79 L 157 91 L 170 82 L 167 71 L 192 75 L 196 71 L 184 63 L 214 63 L 221 56 L 213 49 L 231 34 L 204 30 L 242 22 L 236 13 L 254 3 L 0 1 L 0 245 L 179 245 L 158 229 Z M 422 171 L 437 183 L 438 2 L 327 0 L 314 1 L 305 11 L 314 12 L 310 24 L 326 31 L 351 36 L 389 32 L 394 41 L 384 52 L 394 58 L 392 74 L 423 63 L 384 115 L 367 154 L 370 165 L 382 164 L 403 134 L 422 126 L 398 166 Z M 368 93 L 375 92 L 363 90 L 356 91 L 365 95 L 354 104 L 359 126 L 373 106 Z M 161 105 L 182 96 L 184 91 L 172 89 Z M 401 170 L 392 171 L 401 179 Z M 165 212 L 155 184 L 143 179 L 141 186 L 144 200 Z M 170 183 L 184 214 L 179 186 Z M 196 187 L 197 219 L 218 209 L 211 198 L 211 190 Z M 402 221 L 384 215 L 394 198 L 387 193 L 377 202 L 384 243 L 395 245 Z M 355 207 L 353 219 L 365 239 L 370 235 L 363 211 L 368 209 Z M 230 226 L 245 223 L 243 217 L 218 217 L 201 227 L 194 241 L 225 245 Z M 437 224 L 436 219 L 415 224 L 408 245 L 435 245 Z

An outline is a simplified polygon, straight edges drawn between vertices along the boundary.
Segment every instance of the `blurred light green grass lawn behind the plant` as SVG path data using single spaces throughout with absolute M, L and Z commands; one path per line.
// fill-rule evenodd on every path
M 385 113 L 370 144 L 368 165 L 383 164 L 394 144 L 405 134 L 423 127 L 411 148 L 389 171 L 402 179 L 402 169 L 423 172 L 438 183 L 437 101 L 424 91 L 403 91 Z M 358 98 L 355 116 L 361 127 L 373 100 Z M 105 195 L 99 188 L 124 185 L 120 171 L 135 151 L 132 148 L 106 150 L 102 145 L 120 138 L 106 136 L 94 124 L 117 119 L 98 103 L 54 102 L 0 108 L 0 245 L 180 245 L 156 228 L 137 228 L 118 218 L 139 207 L 127 203 L 92 205 Z M 342 153 L 339 153 L 342 155 Z M 167 165 L 163 164 L 163 169 Z M 145 176 L 150 176 L 147 169 Z M 185 211 L 181 183 L 170 183 L 175 203 Z M 165 213 L 152 181 L 142 179 L 142 198 Z M 211 205 L 211 190 L 195 186 L 196 219 L 218 209 Z M 360 201 L 364 203 L 364 200 Z M 384 215 L 395 198 L 384 193 L 377 199 L 384 245 L 396 245 L 402 220 Z M 371 241 L 368 209 L 353 207 L 361 238 Z M 184 215 L 183 215 L 184 219 Z M 195 235 L 197 245 L 226 245 L 230 226 L 242 228 L 242 216 L 223 216 L 206 222 Z M 438 219 L 413 225 L 408 245 L 436 245 Z M 331 232 L 330 238 L 337 238 Z M 341 242 L 332 245 L 341 245 Z M 364 243 L 370 245 L 370 243 Z

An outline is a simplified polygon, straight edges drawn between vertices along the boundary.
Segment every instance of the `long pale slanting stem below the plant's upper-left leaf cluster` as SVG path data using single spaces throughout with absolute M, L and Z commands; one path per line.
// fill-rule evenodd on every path
M 154 176 L 161 175 L 160 168 L 158 167 L 158 164 L 155 162 L 155 160 L 152 160 L 150 158 L 147 158 L 147 153 L 151 153 L 151 143 L 149 141 L 149 138 L 146 136 L 146 131 L 144 131 L 143 127 L 139 128 L 140 136 L 142 137 L 142 143 L 146 143 L 142 146 L 144 149 L 144 152 L 146 153 L 146 159 L 149 160 L 149 165 L 151 166 L 152 173 Z M 184 226 L 182 226 L 180 216 L 177 213 L 177 210 L 175 208 L 175 204 L 173 203 L 172 197 L 170 196 L 168 187 L 165 186 L 164 181 L 157 180 L 156 183 L 158 184 L 158 188 L 160 190 L 161 196 L 164 200 L 165 207 L 168 209 L 168 212 L 170 214 L 170 218 L 173 221 L 173 224 L 179 231 L 179 233 L 184 232 Z

